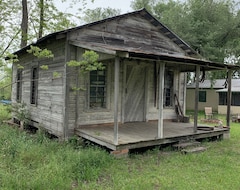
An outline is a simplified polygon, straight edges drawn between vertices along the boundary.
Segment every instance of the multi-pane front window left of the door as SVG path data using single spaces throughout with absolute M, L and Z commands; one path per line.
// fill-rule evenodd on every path
M 106 70 L 90 72 L 90 108 L 106 108 Z

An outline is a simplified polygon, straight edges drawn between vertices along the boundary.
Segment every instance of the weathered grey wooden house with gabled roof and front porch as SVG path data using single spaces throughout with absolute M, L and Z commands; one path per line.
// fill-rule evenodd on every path
M 24 69 L 13 65 L 12 101 L 27 104 L 33 126 L 63 139 L 77 134 L 113 150 L 186 136 L 180 134 L 184 125 L 165 135 L 171 128 L 166 121 L 178 117 L 176 105 L 185 110 L 186 72 L 199 76 L 201 70 L 235 68 L 202 59 L 145 9 L 52 33 L 32 45 L 51 50 L 54 58 L 36 58 L 26 52 L 30 46 L 15 52 Z M 83 75 L 67 66 L 85 50 L 96 51 L 105 70 Z M 195 121 L 187 135 L 197 134 Z

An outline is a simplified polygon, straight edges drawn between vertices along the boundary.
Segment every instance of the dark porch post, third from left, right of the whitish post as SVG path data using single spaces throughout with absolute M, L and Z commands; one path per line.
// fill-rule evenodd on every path
M 194 107 L 194 127 L 193 132 L 197 132 L 198 124 L 198 99 L 199 99 L 199 76 L 200 76 L 200 66 L 196 66 L 196 89 L 195 89 L 195 107 Z

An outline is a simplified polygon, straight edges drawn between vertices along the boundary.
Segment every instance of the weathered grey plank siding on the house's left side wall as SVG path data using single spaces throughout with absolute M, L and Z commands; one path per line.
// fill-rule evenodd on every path
M 61 137 L 63 133 L 63 66 L 64 66 L 64 40 L 56 43 L 46 44 L 47 48 L 54 54 L 54 58 L 41 59 L 31 54 L 24 54 L 19 58 L 20 64 L 24 66 L 22 75 L 22 102 L 27 104 L 30 111 L 30 120 L 36 127 L 44 127 L 50 133 Z M 41 65 L 48 65 L 48 69 L 41 69 Z M 37 104 L 30 104 L 31 69 L 33 66 L 39 68 L 39 80 L 37 89 Z M 16 102 L 16 70 L 13 65 L 12 101 Z M 54 72 L 59 74 L 54 76 Z

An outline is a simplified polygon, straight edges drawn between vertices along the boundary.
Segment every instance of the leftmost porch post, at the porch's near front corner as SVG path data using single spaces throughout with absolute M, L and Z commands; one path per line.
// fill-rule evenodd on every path
M 115 57 L 114 65 L 114 144 L 118 144 L 118 94 L 119 94 L 119 57 Z

